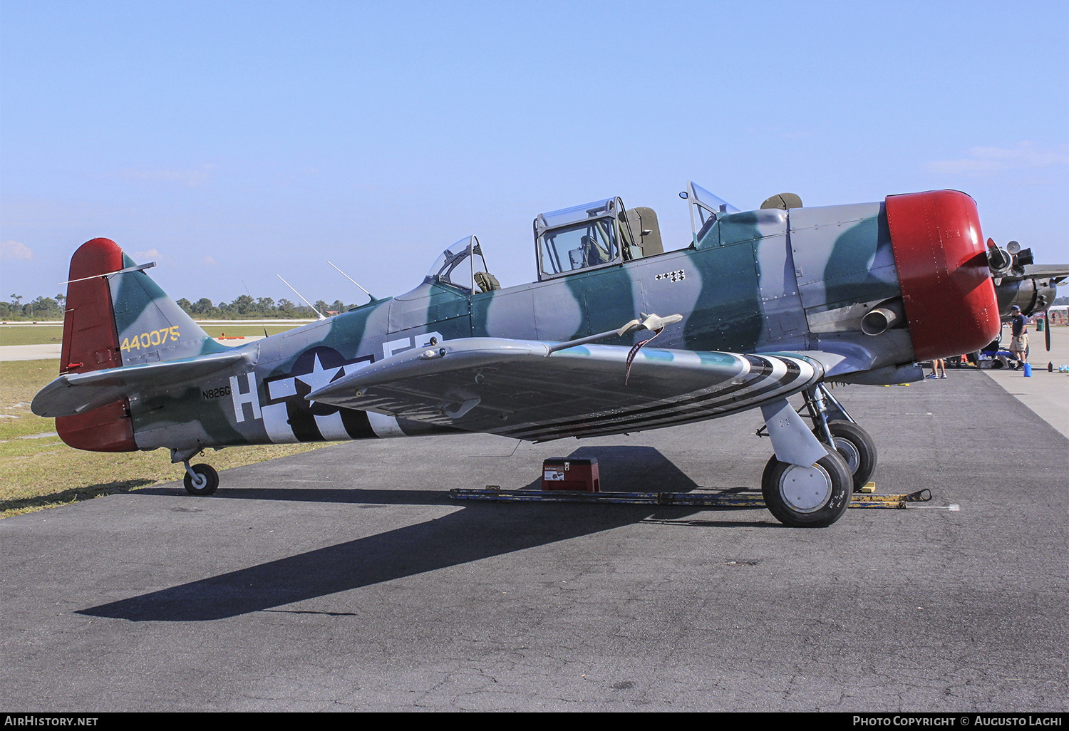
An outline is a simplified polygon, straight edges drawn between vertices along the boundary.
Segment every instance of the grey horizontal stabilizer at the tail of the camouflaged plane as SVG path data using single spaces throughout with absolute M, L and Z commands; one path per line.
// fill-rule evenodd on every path
M 215 353 L 89 373 L 66 373 L 41 389 L 30 408 L 43 417 L 74 416 L 134 393 L 181 386 L 246 358 L 242 353 Z

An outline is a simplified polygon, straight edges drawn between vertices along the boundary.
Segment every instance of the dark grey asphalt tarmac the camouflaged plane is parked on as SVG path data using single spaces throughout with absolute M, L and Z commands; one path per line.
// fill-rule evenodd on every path
M 1069 444 L 977 371 L 835 393 L 908 510 L 456 503 L 759 484 L 758 411 L 339 445 L 0 520 L 5 711 L 1065 711 Z M 204 461 L 211 463 L 211 452 Z M 177 476 L 177 470 L 176 476 Z M 951 510 L 957 506 L 958 510 Z

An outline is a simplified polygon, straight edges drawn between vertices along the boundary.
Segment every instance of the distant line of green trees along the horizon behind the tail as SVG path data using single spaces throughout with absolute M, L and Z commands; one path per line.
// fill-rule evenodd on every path
M 22 302 L 22 295 L 13 294 L 10 302 L 0 301 L 0 320 L 63 320 L 63 311 L 66 307 L 65 295 L 37 297 L 26 304 Z M 270 297 L 253 299 L 249 295 L 242 295 L 232 302 L 219 302 L 218 305 L 207 297 L 201 297 L 196 302 L 190 302 L 183 297 L 176 304 L 195 320 L 269 320 L 275 317 L 298 320 L 315 316 L 312 309 L 305 304 L 294 305 L 289 299 L 280 299 L 276 302 Z M 327 304 L 322 299 L 315 302 L 315 309 L 328 316 L 332 313 L 346 312 L 354 307 L 355 305 L 345 305 L 340 299 L 336 299 L 332 304 Z

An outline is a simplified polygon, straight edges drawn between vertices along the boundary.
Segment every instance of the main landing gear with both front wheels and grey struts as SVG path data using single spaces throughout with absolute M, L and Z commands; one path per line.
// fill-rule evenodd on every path
M 776 450 L 761 493 L 780 523 L 819 528 L 842 517 L 852 493 L 872 476 L 877 452 L 869 433 L 823 386 L 806 389 L 805 396 L 811 430 L 786 399 L 761 407 Z

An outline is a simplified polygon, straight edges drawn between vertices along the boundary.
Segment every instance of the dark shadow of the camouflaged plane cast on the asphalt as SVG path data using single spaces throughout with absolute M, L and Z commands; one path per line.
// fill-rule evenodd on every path
M 698 487 L 651 447 L 584 447 L 571 457 L 605 461 L 603 480 L 638 489 L 636 480 L 656 477 L 657 492 Z M 532 483 L 536 484 L 536 483 Z M 646 484 L 645 491 L 651 489 Z M 438 493 L 420 491 L 232 489 L 219 497 L 255 499 L 439 503 Z M 309 495 L 311 493 L 312 495 Z M 243 495 L 244 494 L 244 495 Z M 343 497 L 344 494 L 344 497 Z M 422 500 L 419 496 L 430 495 Z M 369 498 L 371 498 L 369 500 Z M 78 611 L 80 615 L 140 622 L 211 621 L 303 602 L 383 581 L 422 574 L 525 548 L 599 533 L 642 520 L 668 522 L 693 508 L 625 504 L 469 503 L 449 515 L 375 535 L 268 561 L 140 596 Z M 685 525 L 685 524 L 684 524 Z M 701 527 L 778 527 L 770 520 L 702 522 Z

